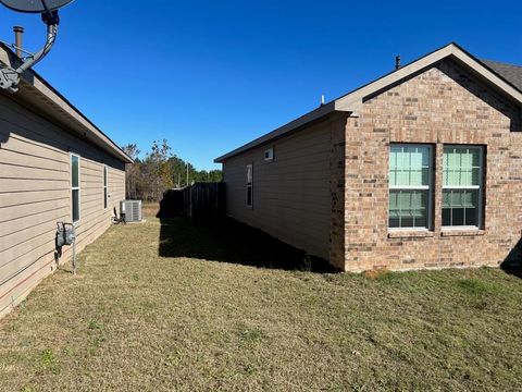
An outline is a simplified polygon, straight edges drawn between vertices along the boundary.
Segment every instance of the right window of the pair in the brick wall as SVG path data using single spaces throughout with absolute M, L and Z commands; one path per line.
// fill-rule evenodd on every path
M 482 147 L 444 147 L 443 228 L 482 226 Z

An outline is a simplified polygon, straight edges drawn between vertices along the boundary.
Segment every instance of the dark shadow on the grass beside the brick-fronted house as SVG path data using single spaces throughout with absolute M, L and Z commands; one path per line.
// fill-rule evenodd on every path
M 324 259 L 231 218 L 161 218 L 161 257 L 187 257 L 259 268 L 335 272 Z

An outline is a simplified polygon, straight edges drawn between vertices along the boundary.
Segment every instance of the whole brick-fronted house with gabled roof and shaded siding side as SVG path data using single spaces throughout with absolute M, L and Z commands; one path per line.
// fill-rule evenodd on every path
M 227 215 L 344 271 L 499 266 L 521 108 L 522 68 L 447 45 L 217 158 Z

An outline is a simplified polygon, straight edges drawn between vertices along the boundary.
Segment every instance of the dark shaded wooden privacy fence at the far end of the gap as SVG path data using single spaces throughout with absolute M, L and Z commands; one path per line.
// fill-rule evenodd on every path
M 165 192 L 160 201 L 159 218 L 212 218 L 225 213 L 224 183 L 195 183 Z

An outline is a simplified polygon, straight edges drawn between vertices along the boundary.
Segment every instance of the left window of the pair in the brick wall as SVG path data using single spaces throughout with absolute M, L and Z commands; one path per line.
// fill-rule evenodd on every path
M 389 152 L 390 229 L 431 228 L 432 146 L 393 145 Z

